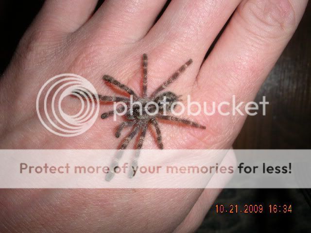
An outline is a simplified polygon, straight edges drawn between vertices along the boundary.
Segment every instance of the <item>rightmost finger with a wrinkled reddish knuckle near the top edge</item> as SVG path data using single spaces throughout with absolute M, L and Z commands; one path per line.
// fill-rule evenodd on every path
M 292 37 L 306 4 L 307 0 L 244 0 L 200 70 L 197 96 L 230 104 L 233 95 L 238 103 L 253 100 Z M 225 141 L 230 144 L 245 119 L 240 116 L 222 116 L 221 124 L 207 125 L 231 132 Z

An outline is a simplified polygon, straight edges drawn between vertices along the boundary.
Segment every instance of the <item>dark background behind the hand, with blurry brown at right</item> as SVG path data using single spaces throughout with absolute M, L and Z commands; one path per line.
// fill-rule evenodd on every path
M 43 0 L 0 0 L 0 74 Z M 167 4 L 168 5 L 168 4 Z M 266 116 L 249 116 L 234 149 L 311 149 L 311 2 L 276 66 L 261 87 Z M 225 189 L 215 204 L 292 204 L 287 214 L 216 214 L 203 221 L 204 232 L 311 232 L 311 192 L 306 189 Z

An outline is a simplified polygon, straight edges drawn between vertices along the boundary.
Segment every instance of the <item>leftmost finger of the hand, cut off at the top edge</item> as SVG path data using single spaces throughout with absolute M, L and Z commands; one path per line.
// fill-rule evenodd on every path
M 92 15 L 98 0 L 46 0 L 36 23 L 52 31 L 71 33 Z

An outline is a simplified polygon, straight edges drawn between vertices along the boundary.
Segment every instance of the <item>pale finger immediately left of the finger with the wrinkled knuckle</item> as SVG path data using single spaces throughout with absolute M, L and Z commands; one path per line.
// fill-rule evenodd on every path
M 240 1 L 172 0 L 144 39 L 153 41 L 156 53 L 165 54 L 177 64 L 192 58 L 198 68 L 201 65 L 198 60 L 203 60 Z

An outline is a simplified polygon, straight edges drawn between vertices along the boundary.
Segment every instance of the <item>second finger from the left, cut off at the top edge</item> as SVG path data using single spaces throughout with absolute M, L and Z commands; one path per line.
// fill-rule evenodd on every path
M 87 24 L 103 40 L 132 43 L 154 24 L 166 0 L 106 0 Z

